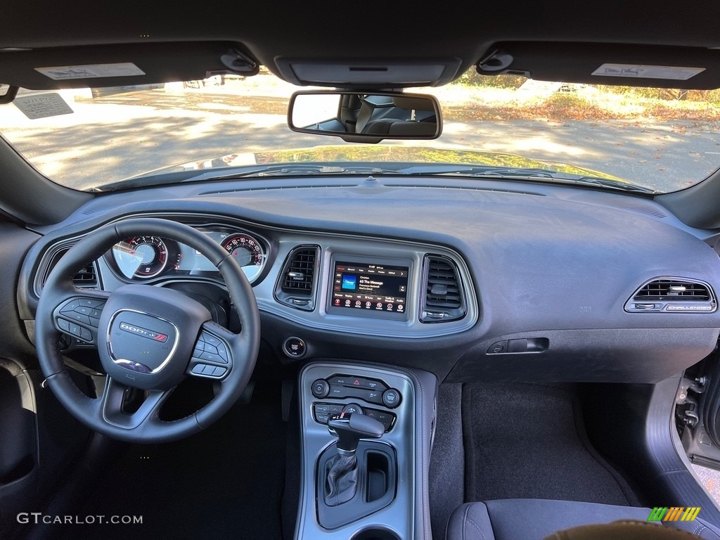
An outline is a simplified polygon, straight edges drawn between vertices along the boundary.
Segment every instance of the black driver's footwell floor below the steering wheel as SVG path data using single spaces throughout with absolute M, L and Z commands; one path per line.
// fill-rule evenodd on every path
M 81 515 L 143 523 L 77 526 L 73 538 L 280 539 L 286 430 L 278 394 L 183 441 L 132 446 Z

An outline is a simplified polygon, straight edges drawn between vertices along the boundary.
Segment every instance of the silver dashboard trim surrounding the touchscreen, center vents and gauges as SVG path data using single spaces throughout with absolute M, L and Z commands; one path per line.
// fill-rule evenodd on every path
M 176 219 L 187 225 L 198 227 L 217 225 L 220 227 L 246 228 L 247 232 L 265 243 L 267 250 L 264 266 L 258 274 L 259 280 L 253 282 L 258 308 L 262 312 L 276 315 L 279 318 L 289 321 L 302 328 L 311 330 L 327 330 L 347 334 L 387 337 L 387 338 L 434 338 L 449 336 L 451 334 L 464 332 L 472 328 L 480 319 L 479 300 L 476 295 L 476 285 L 464 258 L 451 248 L 436 243 L 420 243 L 416 240 L 402 240 L 397 238 L 368 237 L 354 233 L 336 233 L 329 231 L 304 231 L 291 230 L 277 227 L 275 225 L 264 225 L 260 223 L 238 220 L 235 217 L 225 217 L 207 213 L 189 214 L 187 212 L 137 212 L 109 222 L 117 222 L 130 217 L 164 217 Z M 256 230 L 262 230 L 263 234 Z M 75 235 L 72 238 L 60 240 L 48 248 L 46 255 L 54 246 L 73 243 L 84 235 Z M 271 240 L 269 240 L 271 238 Z M 282 272 L 282 266 L 289 253 L 300 245 L 320 246 L 320 269 L 318 281 L 315 286 L 316 305 L 311 312 L 297 310 L 294 307 L 277 302 L 274 297 L 274 289 Z M 330 261 L 334 253 L 354 253 L 363 257 L 381 258 L 410 258 L 413 260 L 413 272 L 409 276 L 408 289 L 415 291 L 408 295 L 408 320 L 374 320 L 369 318 L 353 317 L 351 315 L 336 315 L 328 313 L 325 308 L 325 300 L 328 297 L 328 282 L 330 276 Z M 444 323 L 424 324 L 420 323 L 420 296 L 419 287 L 422 284 L 421 271 L 423 268 L 423 257 L 427 254 L 446 256 L 456 264 L 459 277 L 464 286 L 465 299 L 467 300 L 467 314 L 460 320 L 452 320 Z M 43 256 L 38 267 L 42 271 L 43 263 L 46 264 L 47 257 Z M 109 269 L 104 257 L 98 259 L 98 275 L 105 290 L 112 290 L 127 284 L 114 276 Z M 144 280 L 148 284 L 164 284 L 179 281 L 179 276 L 172 276 L 171 279 L 156 278 Z M 181 276 L 180 281 L 210 282 L 222 287 L 222 280 L 212 276 Z

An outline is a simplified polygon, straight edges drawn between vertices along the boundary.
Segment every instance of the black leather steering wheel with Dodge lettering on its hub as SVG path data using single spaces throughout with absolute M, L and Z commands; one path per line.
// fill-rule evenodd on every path
M 206 307 L 173 289 L 128 284 L 108 293 L 73 285 L 78 268 L 135 235 L 179 240 L 207 257 L 225 279 L 241 332 L 212 322 Z M 255 366 L 260 318 L 245 273 L 219 244 L 188 225 L 135 218 L 94 230 L 58 261 L 40 295 L 35 331 L 42 374 L 75 418 L 113 438 L 151 443 L 201 431 L 238 400 Z M 58 351 L 58 332 L 97 347 L 107 373 L 99 397 L 76 387 Z M 192 415 L 161 420 L 163 402 L 186 377 L 219 382 L 220 390 Z M 145 391 L 135 412 L 125 412 L 128 388 Z

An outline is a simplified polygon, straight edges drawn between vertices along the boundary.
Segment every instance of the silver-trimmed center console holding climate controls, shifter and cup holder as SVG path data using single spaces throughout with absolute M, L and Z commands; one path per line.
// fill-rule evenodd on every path
M 339 274 L 356 268 L 338 266 Z M 392 287 L 400 287 L 397 277 Z M 436 387 L 428 372 L 377 364 L 315 362 L 302 369 L 295 539 L 430 539 Z

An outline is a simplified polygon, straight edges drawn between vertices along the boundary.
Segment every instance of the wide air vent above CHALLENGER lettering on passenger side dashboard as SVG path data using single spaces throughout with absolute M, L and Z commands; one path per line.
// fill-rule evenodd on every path
M 710 285 L 681 277 L 652 279 L 637 289 L 625 304 L 627 312 L 711 313 L 716 307 Z

